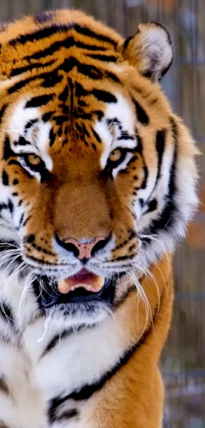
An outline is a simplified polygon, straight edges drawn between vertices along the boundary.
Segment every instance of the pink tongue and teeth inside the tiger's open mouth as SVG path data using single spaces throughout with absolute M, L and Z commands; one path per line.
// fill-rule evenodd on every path
M 97 293 L 103 287 L 104 282 L 105 278 L 103 276 L 98 276 L 86 269 L 82 269 L 68 279 L 59 280 L 57 289 L 60 293 L 67 294 L 75 288 L 83 287 L 87 291 Z

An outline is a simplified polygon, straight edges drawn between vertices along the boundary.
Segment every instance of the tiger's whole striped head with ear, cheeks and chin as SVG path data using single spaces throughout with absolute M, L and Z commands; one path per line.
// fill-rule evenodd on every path
M 93 323 L 184 234 L 195 152 L 157 82 L 167 32 L 73 14 L 2 35 L 0 236 L 43 311 Z

